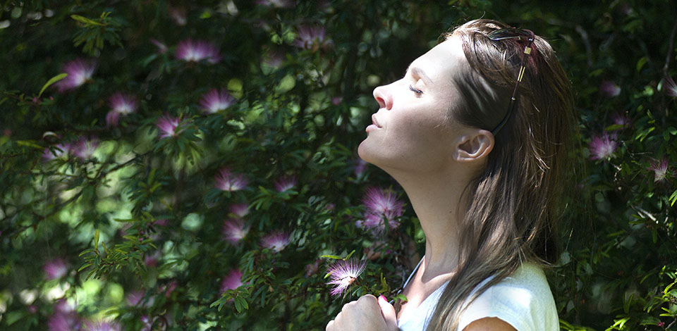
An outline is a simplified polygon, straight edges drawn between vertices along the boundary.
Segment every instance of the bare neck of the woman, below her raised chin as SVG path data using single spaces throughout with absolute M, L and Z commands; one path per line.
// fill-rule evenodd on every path
M 468 185 L 465 179 L 470 178 L 459 172 L 463 170 L 406 174 L 389 171 L 409 196 L 425 232 L 424 280 L 454 273 L 458 266 L 458 224 L 465 213 L 461 194 Z

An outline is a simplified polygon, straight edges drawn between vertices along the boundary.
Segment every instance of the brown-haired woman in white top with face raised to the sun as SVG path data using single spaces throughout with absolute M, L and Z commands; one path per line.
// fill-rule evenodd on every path
M 358 153 L 392 175 L 425 232 L 396 307 L 367 295 L 327 330 L 559 330 L 542 267 L 573 137 L 571 90 L 529 30 L 473 20 L 374 89 Z

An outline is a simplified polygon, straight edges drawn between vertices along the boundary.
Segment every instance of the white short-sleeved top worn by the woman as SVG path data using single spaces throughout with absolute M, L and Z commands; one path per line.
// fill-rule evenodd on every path
M 420 264 L 419 262 L 403 287 L 408 285 Z M 491 279 L 492 277 L 487 278 L 477 288 Z M 413 311 L 408 310 L 398 319 L 399 329 L 424 331 L 447 284 L 449 282 L 445 282 L 419 306 L 413 308 Z M 463 331 L 473 321 L 487 317 L 500 318 L 518 331 L 559 331 L 559 316 L 548 281 L 543 270 L 531 263 L 524 263 L 515 273 L 478 296 L 461 316 L 457 331 Z

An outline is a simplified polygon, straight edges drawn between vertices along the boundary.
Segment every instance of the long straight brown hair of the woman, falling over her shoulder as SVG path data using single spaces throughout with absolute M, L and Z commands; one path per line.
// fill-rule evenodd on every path
M 489 32 L 508 27 L 472 20 L 444 39 L 459 38 L 470 68 L 455 75 L 461 104 L 450 117 L 492 130 L 504 117 L 525 43 L 494 41 Z M 559 257 L 559 223 L 568 178 L 575 115 L 566 73 L 547 41 L 535 37 L 515 108 L 496 133 L 484 172 L 465 189 L 467 213 L 458 231 L 461 256 L 439 298 L 427 330 L 456 330 L 463 311 L 487 288 L 523 262 L 549 266 Z M 480 282 L 494 276 L 477 291 Z

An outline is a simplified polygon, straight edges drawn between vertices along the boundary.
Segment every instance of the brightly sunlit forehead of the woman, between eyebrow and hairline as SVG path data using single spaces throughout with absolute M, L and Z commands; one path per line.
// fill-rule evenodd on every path
M 422 69 L 434 82 L 449 82 L 453 73 L 465 68 L 465 63 L 461 40 L 451 37 L 415 59 L 410 68 Z

